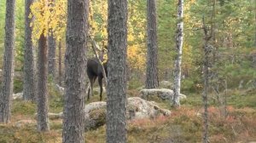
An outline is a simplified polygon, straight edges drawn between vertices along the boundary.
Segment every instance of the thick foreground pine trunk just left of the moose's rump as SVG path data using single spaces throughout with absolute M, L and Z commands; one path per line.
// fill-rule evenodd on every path
M 67 50 L 63 143 L 84 143 L 85 66 L 89 0 L 70 0 L 67 4 Z

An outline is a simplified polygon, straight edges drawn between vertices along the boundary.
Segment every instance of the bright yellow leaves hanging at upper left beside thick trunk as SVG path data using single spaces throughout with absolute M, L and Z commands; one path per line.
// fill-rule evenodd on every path
M 67 26 L 67 1 L 65 0 L 39 0 L 32 3 L 33 18 L 31 26 L 32 39 L 35 44 L 44 31 L 44 36 L 49 35 L 49 31 L 53 31 L 54 37 L 60 40 L 64 36 Z

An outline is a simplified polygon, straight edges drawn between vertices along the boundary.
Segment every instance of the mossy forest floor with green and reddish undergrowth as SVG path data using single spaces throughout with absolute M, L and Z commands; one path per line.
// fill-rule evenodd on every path
M 97 94 L 97 93 L 96 93 Z M 137 96 L 137 90 L 128 94 Z M 104 94 L 104 97 L 106 95 Z M 223 106 L 214 102 L 210 95 L 209 140 L 211 143 L 247 143 L 256 141 L 256 89 L 229 90 L 226 94 L 227 115 Z M 95 95 L 91 101 L 99 100 Z M 182 106 L 172 109 L 167 101 L 157 100 L 163 108 L 170 109 L 170 117 L 140 119 L 127 123 L 127 139 L 131 143 L 194 143 L 201 142 L 202 108 L 201 94 L 187 94 Z M 86 103 L 87 104 L 87 103 Z M 63 98 L 53 88 L 49 88 L 49 112 L 62 112 Z M 38 133 L 36 129 L 36 105 L 31 102 L 14 100 L 11 123 L 0 125 L 0 143 L 61 142 L 61 119 L 50 119 L 50 131 Z M 22 124 L 25 123 L 25 124 Z M 88 143 L 105 142 L 106 126 L 84 133 Z

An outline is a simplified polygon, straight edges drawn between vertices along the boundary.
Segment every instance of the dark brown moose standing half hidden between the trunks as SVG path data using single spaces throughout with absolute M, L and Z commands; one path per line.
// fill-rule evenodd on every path
M 107 72 L 108 61 L 103 63 L 104 70 L 106 72 L 106 76 L 108 76 Z M 90 90 L 91 95 L 93 96 L 93 83 L 96 81 L 96 77 L 98 77 L 98 83 L 100 86 L 100 100 L 102 100 L 102 78 L 103 78 L 103 70 L 101 63 L 96 58 L 91 58 L 87 60 L 87 76 L 90 80 L 90 89 L 88 90 L 87 100 L 90 100 Z

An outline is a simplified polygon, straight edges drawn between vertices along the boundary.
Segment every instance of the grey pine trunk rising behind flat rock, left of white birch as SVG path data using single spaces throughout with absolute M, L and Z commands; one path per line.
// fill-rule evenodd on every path
M 159 86 L 157 71 L 157 33 L 156 33 L 156 8 L 155 0 L 147 0 L 148 11 L 148 56 L 146 70 L 146 89 L 154 89 Z

